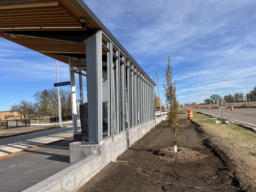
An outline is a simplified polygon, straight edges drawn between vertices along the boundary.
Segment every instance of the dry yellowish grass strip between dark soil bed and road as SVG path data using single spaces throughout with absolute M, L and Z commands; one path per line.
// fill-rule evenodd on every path
M 199 124 L 214 145 L 233 162 L 237 177 L 256 191 L 256 133 L 236 124 L 212 124 L 209 116 L 194 113 Z

